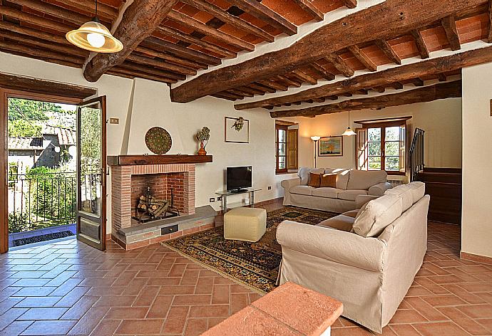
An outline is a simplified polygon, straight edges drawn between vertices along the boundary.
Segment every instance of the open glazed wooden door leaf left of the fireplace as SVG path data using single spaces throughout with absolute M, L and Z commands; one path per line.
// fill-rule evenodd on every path
M 106 96 L 77 108 L 77 239 L 106 249 Z

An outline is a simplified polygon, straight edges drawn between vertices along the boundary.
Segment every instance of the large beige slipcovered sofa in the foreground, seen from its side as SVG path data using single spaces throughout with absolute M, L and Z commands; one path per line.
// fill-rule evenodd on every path
M 292 281 L 336 298 L 345 317 L 381 332 L 424 260 L 429 209 L 424 191 L 421 182 L 399 186 L 359 211 L 317 226 L 283 221 L 277 229 L 280 284 Z

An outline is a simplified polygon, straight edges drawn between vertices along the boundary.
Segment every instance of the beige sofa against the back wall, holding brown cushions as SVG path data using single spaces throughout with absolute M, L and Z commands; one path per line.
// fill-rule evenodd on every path
M 337 173 L 337 188 L 309 187 L 309 172 Z M 281 182 L 285 191 L 286 206 L 342 213 L 357 209 L 358 196 L 381 196 L 391 188 L 391 184 L 386 182 L 386 172 L 380 170 L 367 172 L 354 169 L 301 168 L 297 175 L 295 179 L 285 179 Z

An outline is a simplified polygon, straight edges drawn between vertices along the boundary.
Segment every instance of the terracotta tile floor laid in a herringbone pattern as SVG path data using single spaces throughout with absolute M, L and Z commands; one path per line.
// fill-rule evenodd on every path
M 429 251 L 384 335 L 492 335 L 492 266 L 458 258 L 458 226 L 429 223 Z M 155 244 L 76 240 L 0 256 L 0 335 L 200 335 L 251 290 Z M 339 318 L 332 335 L 371 335 Z

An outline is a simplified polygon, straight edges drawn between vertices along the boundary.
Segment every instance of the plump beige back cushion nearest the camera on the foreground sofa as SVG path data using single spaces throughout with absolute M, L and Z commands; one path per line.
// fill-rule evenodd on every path
M 373 199 L 359 211 L 352 230 L 359 236 L 379 236 L 386 226 L 401 216 L 401 197 L 387 194 Z

